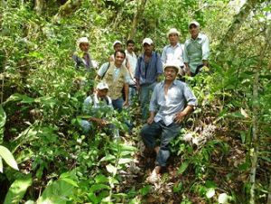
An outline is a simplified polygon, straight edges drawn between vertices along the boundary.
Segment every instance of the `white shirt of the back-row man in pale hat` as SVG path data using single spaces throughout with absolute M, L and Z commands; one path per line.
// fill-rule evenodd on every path
M 183 49 L 182 44 L 177 43 L 174 47 L 172 45 L 166 45 L 162 51 L 161 60 L 164 64 L 176 63 L 180 67 L 183 67 Z

